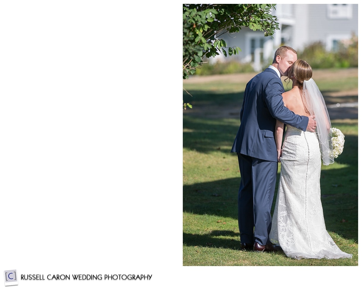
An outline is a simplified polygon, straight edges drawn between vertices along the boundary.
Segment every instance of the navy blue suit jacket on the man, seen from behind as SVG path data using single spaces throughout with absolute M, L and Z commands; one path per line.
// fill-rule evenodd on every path
M 306 131 L 308 117 L 296 115 L 286 108 L 282 93 L 282 81 L 271 68 L 248 82 L 240 111 L 240 127 L 231 152 L 277 162 L 275 119 Z

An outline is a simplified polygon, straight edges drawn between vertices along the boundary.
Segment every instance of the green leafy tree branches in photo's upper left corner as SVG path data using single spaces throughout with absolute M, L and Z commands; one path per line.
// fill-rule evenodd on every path
M 277 17 L 270 14 L 275 4 L 183 4 L 182 78 L 189 78 L 202 65 L 203 57 L 225 57 L 239 53 L 228 47 L 225 33 L 239 32 L 241 27 L 264 31 L 271 36 L 279 30 Z

